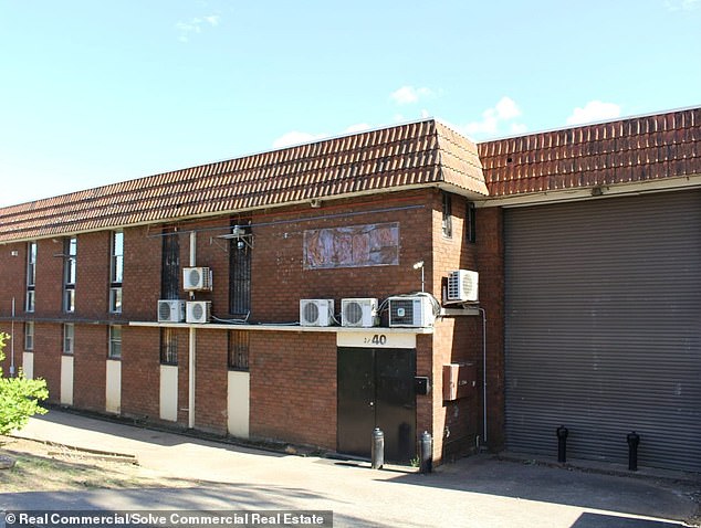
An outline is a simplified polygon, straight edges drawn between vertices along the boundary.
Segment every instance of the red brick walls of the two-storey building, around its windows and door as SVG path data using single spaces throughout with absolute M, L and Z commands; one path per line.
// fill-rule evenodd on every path
M 465 242 L 467 201 L 452 198 L 452 237 L 441 232 L 441 192 L 428 189 L 381 197 L 258 211 L 253 222 L 252 321 L 296 321 L 300 298 L 333 298 L 336 313 L 344 297 L 378 297 L 419 291 L 421 273 L 412 264 L 425 261 L 426 291 L 437 298 L 448 273 L 480 272 L 480 300 L 488 310 L 490 441 L 499 445 L 503 426 L 503 249 L 501 211 L 478 210 L 478 243 Z M 305 270 L 304 231 L 385 222 L 399 222 L 399 265 Z M 179 226 L 180 264 L 189 265 L 190 236 L 197 229 L 197 265 L 213 271 L 215 291 L 197 293 L 211 300 L 212 313 L 229 317 L 229 232 L 231 219 L 221 217 Z M 60 394 L 61 321 L 75 320 L 75 406 L 104 411 L 107 325 L 124 321 L 122 412 L 158 421 L 158 328 L 129 327 L 129 320 L 155 321 L 160 298 L 163 237 L 156 228 L 125 230 L 124 306 L 121 316 L 108 314 L 111 232 L 79 235 L 76 313 L 62 314 L 63 251 L 61 239 L 39 241 L 36 265 L 36 324 L 34 371 L 48 379 L 53 401 Z M 17 250 L 18 256 L 10 256 Z M 0 318 L 9 317 L 17 298 L 23 310 L 25 244 L 0 250 Z M 181 291 L 181 298 L 188 294 Z M 23 314 L 22 314 L 23 315 Z M 32 316 L 34 317 L 34 316 Z M 87 324 L 92 323 L 92 324 Z M 7 319 L 3 327 L 7 327 Z M 21 344 L 21 323 L 15 336 Z M 21 347 L 15 350 L 20 351 Z M 39 348 L 41 347 L 41 351 Z M 21 352 L 17 355 L 21 357 Z M 442 366 L 475 361 L 481 379 L 481 320 L 479 317 L 439 320 L 432 336 L 417 337 L 417 374 L 430 376 L 432 391 L 417 397 L 417 434 L 435 437 L 437 461 L 474 446 L 481 434 L 481 399 L 442 401 Z M 198 329 L 196 427 L 217 433 L 227 429 L 227 331 Z M 251 331 L 251 435 L 336 447 L 335 334 Z M 188 330 L 179 331 L 178 422 L 188 423 Z M 481 394 L 481 391 L 479 391 Z M 448 435 L 447 433 L 450 432 Z

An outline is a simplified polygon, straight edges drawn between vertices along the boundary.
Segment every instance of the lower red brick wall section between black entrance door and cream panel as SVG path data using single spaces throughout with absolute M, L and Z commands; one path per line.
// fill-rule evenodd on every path
M 251 435 L 336 448 L 336 335 L 251 332 Z

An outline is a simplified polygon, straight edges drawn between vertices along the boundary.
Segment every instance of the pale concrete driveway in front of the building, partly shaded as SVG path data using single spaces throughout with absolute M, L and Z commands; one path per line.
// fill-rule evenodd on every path
M 681 475 L 611 475 L 491 455 L 430 475 L 367 463 L 270 453 L 61 411 L 21 436 L 136 455 L 186 488 L 0 493 L 0 509 L 333 510 L 334 526 L 666 528 L 697 514 Z M 641 472 L 644 473 L 644 472 Z M 0 490 L 1 492 L 1 490 Z

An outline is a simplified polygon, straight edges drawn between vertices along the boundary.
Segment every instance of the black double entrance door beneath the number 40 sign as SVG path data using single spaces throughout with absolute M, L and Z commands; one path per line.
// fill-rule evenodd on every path
M 339 453 L 370 456 L 375 427 L 385 433 L 385 460 L 416 456 L 416 349 L 338 348 Z

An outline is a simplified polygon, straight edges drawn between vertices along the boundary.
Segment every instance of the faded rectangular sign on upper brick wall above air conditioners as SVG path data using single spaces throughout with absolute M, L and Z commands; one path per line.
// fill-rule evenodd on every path
M 399 264 L 399 222 L 304 231 L 304 267 Z

